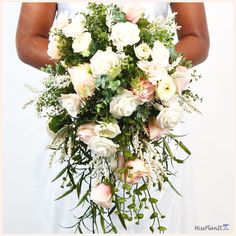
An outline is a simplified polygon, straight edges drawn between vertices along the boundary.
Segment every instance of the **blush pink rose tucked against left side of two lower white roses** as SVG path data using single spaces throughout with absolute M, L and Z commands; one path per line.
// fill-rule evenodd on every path
M 84 142 L 85 144 L 88 144 L 91 138 L 96 136 L 95 126 L 96 124 L 92 122 L 81 125 L 77 129 L 78 139 Z

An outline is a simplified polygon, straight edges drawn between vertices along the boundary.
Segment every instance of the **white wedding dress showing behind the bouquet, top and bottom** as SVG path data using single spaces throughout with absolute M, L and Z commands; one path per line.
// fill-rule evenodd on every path
M 137 2 L 136 2 L 137 3 Z M 168 14 L 168 3 L 154 3 L 154 2 L 139 2 L 145 9 L 145 15 L 150 19 L 155 19 L 158 15 L 166 16 Z M 74 14 L 78 11 L 84 11 L 86 9 L 86 2 L 60 2 L 58 3 L 58 12 L 69 11 Z M 180 132 L 177 132 L 180 133 Z M 36 226 L 35 233 L 73 233 L 74 229 L 65 229 L 63 227 L 72 226 L 76 223 L 74 216 L 78 216 L 80 209 L 77 208 L 74 211 L 69 211 L 77 203 L 76 193 L 72 193 L 69 196 L 59 200 L 53 201 L 56 197 L 63 193 L 63 189 L 60 189 L 60 180 L 55 183 L 50 183 L 52 178 L 60 171 L 60 164 L 53 164 L 51 169 L 39 172 L 42 162 L 46 162 L 48 154 L 42 153 L 44 158 L 40 158 L 36 165 L 35 170 L 35 189 L 38 191 L 39 197 L 37 204 L 37 213 L 35 217 L 38 218 L 40 224 Z M 44 164 L 45 166 L 45 164 Z M 166 186 L 166 191 L 162 193 L 153 193 L 159 199 L 160 210 L 166 218 L 162 220 L 162 225 L 168 228 L 168 233 L 186 233 L 191 230 L 191 211 L 189 200 L 191 194 L 190 185 L 186 180 L 189 177 L 189 166 L 185 163 L 179 167 L 180 171 L 173 182 L 176 188 L 184 195 L 184 197 L 178 196 L 172 191 L 169 186 Z M 185 175 L 187 177 L 185 177 Z M 39 210 L 40 209 L 40 210 Z M 191 209 L 192 210 L 192 209 Z M 45 214 L 46 212 L 46 214 Z M 128 223 L 128 230 L 125 231 L 120 224 L 119 220 L 115 220 L 119 233 L 150 233 L 148 223 L 148 212 L 145 213 L 144 219 L 142 219 L 140 225 Z M 89 222 L 88 222 L 89 223 Z M 62 227 L 60 227 L 62 226 Z

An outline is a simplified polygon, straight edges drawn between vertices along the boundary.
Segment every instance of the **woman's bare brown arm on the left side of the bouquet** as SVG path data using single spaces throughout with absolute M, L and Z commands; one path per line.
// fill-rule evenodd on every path
M 56 3 L 22 3 L 16 33 L 17 53 L 23 62 L 37 69 L 54 64 L 47 48 L 56 8 Z

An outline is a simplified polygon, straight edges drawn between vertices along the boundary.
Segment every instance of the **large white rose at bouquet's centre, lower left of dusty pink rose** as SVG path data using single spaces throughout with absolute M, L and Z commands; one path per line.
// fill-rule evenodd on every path
M 133 92 L 124 89 L 121 94 L 112 98 L 110 113 L 118 119 L 123 116 L 131 116 L 137 106 L 141 104 L 142 101 Z

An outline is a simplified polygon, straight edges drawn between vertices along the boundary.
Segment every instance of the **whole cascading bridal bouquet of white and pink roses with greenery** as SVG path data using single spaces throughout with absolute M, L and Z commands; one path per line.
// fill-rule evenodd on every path
M 145 217 L 152 232 L 166 230 L 156 195 L 165 184 L 179 194 L 170 166 L 191 154 L 172 132 L 200 100 L 189 88 L 200 76 L 174 49 L 179 28 L 175 14 L 150 22 L 131 5 L 88 3 L 86 12 L 55 19 L 48 55 L 57 63 L 43 68 L 44 87 L 30 103 L 48 118 L 50 162 L 62 164 L 57 199 L 78 195 L 80 233 L 117 233 Z

